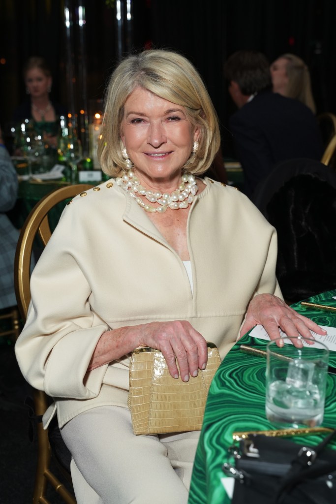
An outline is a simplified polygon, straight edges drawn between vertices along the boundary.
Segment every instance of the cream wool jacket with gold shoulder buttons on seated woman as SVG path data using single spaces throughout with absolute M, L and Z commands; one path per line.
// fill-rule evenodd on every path
M 62 426 L 101 405 L 127 405 L 129 355 L 87 372 L 100 336 L 187 320 L 223 358 L 258 293 L 281 296 L 277 238 L 254 205 L 209 178 L 187 223 L 193 293 L 182 261 L 113 179 L 66 206 L 31 278 L 16 355 L 26 380 L 55 400 Z

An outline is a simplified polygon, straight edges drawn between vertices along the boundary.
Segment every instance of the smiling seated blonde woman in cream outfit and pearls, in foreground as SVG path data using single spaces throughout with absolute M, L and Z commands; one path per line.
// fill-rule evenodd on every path
M 224 358 L 258 323 L 272 338 L 321 329 L 281 299 L 274 228 L 235 188 L 200 177 L 220 134 L 189 61 L 125 58 L 102 131 L 112 178 L 66 206 L 34 269 L 16 354 L 54 398 L 43 423 L 57 414 L 78 504 L 186 504 L 199 432 L 133 434 L 132 350 L 161 350 L 187 382 L 206 366 L 206 340 Z

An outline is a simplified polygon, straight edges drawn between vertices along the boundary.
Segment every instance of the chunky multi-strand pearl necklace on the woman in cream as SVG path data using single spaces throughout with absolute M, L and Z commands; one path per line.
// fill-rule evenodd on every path
M 140 184 L 140 180 L 135 176 L 133 170 L 128 170 L 127 174 L 122 175 L 122 177 L 116 177 L 115 182 L 124 191 L 135 198 L 138 205 L 140 205 L 146 212 L 159 212 L 163 213 L 167 208 L 172 210 L 178 210 L 179 208 L 188 208 L 188 206 L 193 202 L 193 198 L 198 191 L 195 177 L 193 175 L 182 174 L 182 181 L 178 185 L 177 189 L 171 194 L 160 193 L 160 191 L 147 190 L 146 187 Z M 150 203 L 159 203 L 160 207 L 152 207 L 152 205 L 144 203 L 139 193 Z

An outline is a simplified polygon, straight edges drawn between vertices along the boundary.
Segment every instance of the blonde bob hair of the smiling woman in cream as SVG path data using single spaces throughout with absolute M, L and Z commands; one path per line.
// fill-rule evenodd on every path
M 200 131 L 198 150 L 181 167 L 187 173 L 204 173 L 220 147 L 218 118 L 200 75 L 184 56 L 150 49 L 127 56 L 114 70 L 105 94 L 98 159 L 105 173 L 115 177 L 125 169 L 120 138 L 124 104 L 137 87 L 184 107 L 190 123 Z

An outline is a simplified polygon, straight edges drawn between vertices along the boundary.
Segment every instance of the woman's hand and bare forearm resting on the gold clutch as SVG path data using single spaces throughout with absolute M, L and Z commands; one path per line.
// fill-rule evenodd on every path
M 171 376 L 197 376 L 205 369 L 208 347 L 204 337 L 189 322 L 150 322 L 128 326 L 104 333 L 97 343 L 88 371 L 132 352 L 145 345 L 160 350 L 166 359 Z

